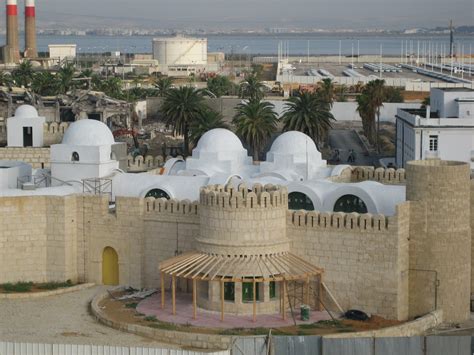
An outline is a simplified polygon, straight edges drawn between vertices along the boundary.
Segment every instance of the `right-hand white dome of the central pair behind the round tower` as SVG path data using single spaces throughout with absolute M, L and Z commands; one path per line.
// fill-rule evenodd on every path
M 284 155 L 320 154 L 314 141 L 306 134 L 297 131 L 285 132 L 275 139 L 270 153 Z

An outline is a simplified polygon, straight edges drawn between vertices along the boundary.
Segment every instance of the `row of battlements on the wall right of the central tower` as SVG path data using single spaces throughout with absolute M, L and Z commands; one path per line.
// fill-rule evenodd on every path
M 331 228 L 341 230 L 387 231 L 389 219 L 384 215 L 288 211 L 288 225 L 297 228 Z

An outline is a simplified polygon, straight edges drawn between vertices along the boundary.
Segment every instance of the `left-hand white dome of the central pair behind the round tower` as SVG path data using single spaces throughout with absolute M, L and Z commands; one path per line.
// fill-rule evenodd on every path
M 244 150 L 242 142 L 228 129 L 215 128 L 206 132 L 199 140 L 197 152 L 240 152 Z

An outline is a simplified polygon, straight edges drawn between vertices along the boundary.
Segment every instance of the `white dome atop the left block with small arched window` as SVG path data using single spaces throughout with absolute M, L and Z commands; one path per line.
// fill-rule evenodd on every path
M 79 120 L 72 123 L 66 130 L 63 144 L 68 145 L 112 145 L 114 136 L 105 123 L 96 120 Z

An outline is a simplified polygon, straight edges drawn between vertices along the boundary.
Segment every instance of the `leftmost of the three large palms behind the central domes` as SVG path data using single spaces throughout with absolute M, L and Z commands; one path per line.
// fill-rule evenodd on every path
M 189 86 L 169 89 L 161 112 L 166 124 L 173 126 L 175 134 L 184 136 L 184 154 L 189 155 L 190 125 L 206 110 L 203 94 Z

